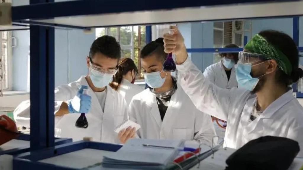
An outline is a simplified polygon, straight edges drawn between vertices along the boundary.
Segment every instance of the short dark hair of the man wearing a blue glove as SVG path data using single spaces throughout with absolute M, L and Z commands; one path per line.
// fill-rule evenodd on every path
M 113 59 L 120 59 L 121 57 L 121 48 L 120 44 L 112 36 L 104 35 L 97 38 L 89 50 L 89 57 L 92 57 L 96 53 L 102 53 L 105 56 Z

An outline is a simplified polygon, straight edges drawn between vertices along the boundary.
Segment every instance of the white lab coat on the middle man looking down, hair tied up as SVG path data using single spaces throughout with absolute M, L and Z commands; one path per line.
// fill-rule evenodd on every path
M 143 139 L 185 139 L 211 145 L 216 135 L 211 117 L 200 112 L 184 90 L 178 89 L 171 96 L 163 122 L 157 99 L 145 89 L 135 95 L 130 103 L 129 119 L 141 125 L 137 134 Z

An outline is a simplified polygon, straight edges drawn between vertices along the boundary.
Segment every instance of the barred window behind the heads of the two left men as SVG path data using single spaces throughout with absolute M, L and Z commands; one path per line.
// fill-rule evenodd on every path
M 110 35 L 116 38 L 121 46 L 121 57 L 128 57 L 134 60 L 138 67 L 138 76 L 143 78 L 140 52 L 145 46 L 145 26 L 96 28 L 96 39 L 103 35 Z

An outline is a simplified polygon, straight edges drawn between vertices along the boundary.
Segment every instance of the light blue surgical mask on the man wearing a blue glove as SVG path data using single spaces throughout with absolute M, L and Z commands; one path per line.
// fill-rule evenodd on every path
M 107 86 L 108 83 L 112 81 L 113 76 L 114 74 L 101 73 L 93 69 L 89 70 L 89 77 L 91 78 L 94 86 L 97 88 L 102 88 Z

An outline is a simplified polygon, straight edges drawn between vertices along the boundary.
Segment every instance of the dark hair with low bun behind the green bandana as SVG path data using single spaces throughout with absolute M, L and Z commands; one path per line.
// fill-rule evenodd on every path
M 275 76 L 277 82 L 285 86 L 297 82 L 303 76 L 303 70 L 298 67 L 299 51 L 295 41 L 289 35 L 275 30 L 264 30 L 259 32 L 259 35 L 285 54 L 291 63 L 292 71 L 290 76 L 278 68 Z

